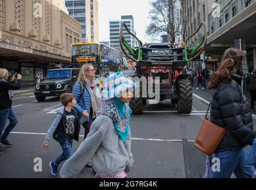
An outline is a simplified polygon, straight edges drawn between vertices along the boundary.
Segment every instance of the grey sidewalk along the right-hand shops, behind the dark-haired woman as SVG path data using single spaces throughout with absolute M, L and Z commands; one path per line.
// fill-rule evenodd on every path
M 201 84 L 199 85 L 199 87 L 200 87 L 199 90 L 197 90 L 196 89 L 197 88 L 197 80 L 194 80 L 193 93 L 197 96 L 200 96 L 202 99 L 206 100 L 207 102 L 211 102 L 211 99 L 212 99 L 211 90 L 208 90 L 208 89 L 201 90 Z M 244 94 L 245 94 L 245 96 L 248 100 L 251 100 L 251 96 L 249 94 L 249 91 L 245 91 Z M 207 102 L 205 102 L 204 100 L 201 100 L 197 96 L 194 96 L 194 97 L 208 106 Z M 252 112 L 252 118 L 256 119 L 256 112 Z

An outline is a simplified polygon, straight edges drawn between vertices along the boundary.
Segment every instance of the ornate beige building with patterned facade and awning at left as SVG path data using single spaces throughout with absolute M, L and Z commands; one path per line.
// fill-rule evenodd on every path
M 0 0 L 0 68 L 21 73 L 22 84 L 70 63 L 74 42 L 81 42 L 81 24 L 64 0 Z

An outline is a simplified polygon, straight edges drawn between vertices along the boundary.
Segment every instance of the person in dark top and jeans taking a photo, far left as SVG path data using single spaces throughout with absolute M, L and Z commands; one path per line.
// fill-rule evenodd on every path
M 17 85 L 8 83 L 9 72 L 7 69 L 0 69 L 0 142 L 5 147 L 11 147 L 12 144 L 7 140 L 8 135 L 12 129 L 17 125 L 18 119 L 12 108 L 12 90 L 20 89 L 21 78 L 20 74 L 13 75 L 11 81 L 17 78 Z M 7 119 L 10 120 L 10 124 L 5 128 Z M 4 130 L 5 128 L 5 130 Z M 4 131 L 4 133 L 2 133 Z M 7 149 L 0 147 L 0 153 L 5 153 Z

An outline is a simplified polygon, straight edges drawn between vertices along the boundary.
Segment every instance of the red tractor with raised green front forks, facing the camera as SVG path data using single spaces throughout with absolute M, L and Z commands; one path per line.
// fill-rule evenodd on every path
M 138 47 L 129 46 L 124 38 L 123 29 L 127 30 L 138 42 Z M 188 40 L 198 31 L 203 30 L 193 45 L 188 46 Z M 154 99 L 149 88 L 159 89 L 160 101 L 171 99 L 177 105 L 179 114 L 189 114 L 192 111 L 192 84 L 188 74 L 182 74 L 181 68 L 187 66 L 189 61 L 197 58 L 206 45 L 207 34 L 206 24 L 201 23 L 197 31 L 185 40 L 184 47 L 176 47 L 173 43 L 143 43 L 129 31 L 125 23 L 121 24 L 120 47 L 122 52 L 136 63 L 135 76 L 143 78 L 146 82 L 147 90 L 142 89 L 144 84 L 138 85 L 140 90 L 134 90 L 134 96 L 129 106 L 134 114 L 143 113 L 143 105 L 147 99 Z M 149 80 L 150 83 L 148 83 Z M 157 80 L 155 80 L 157 78 Z M 156 88 L 157 87 L 157 88 Z

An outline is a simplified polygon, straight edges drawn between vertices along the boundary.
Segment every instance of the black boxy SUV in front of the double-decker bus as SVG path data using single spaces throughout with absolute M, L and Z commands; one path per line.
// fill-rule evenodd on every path
M 72 87 L 77 81 L 80 68 L 51 69 L 47 77 L 36 85 L 34 95 L 38 102 L 45 101 L 47 96 L 61 96 L 72 93 Z

